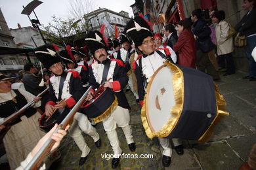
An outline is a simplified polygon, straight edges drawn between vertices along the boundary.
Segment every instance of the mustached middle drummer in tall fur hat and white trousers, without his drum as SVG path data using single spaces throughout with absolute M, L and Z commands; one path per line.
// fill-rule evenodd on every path
M 114 158 L 112 160 L 112 168 L 114 169 L 119 164 L 119 155 L 122 153 L 119 146 L 116 126 L 122 127 L 131 152 L 135 152 L 136 149 L 131 134 L 131 126 L 129 124 L 129 109 L 131 108 L 129 107 L 125 93 L 122 90 L 127 84 L 128 76 L 124 71 L 122 61 L 119 59 L 108 58 L 107 46 L 99 31 L 89 31 L 85 42 L 87 43 L 91 54 L 96 58 L 96 61 L 89 67 L 89 84 L 93 86 L 93 89 L 96 89 L 102 84 L 102 80 L 107 80 L 108 77 L 108 80 L 104 82 L 104 87 L 112 89 L 118 100 L 116 109 L 102 121 L 104 129 L 108 135 L 108 140 L 114 150 Z M 93 92 L 89 92 L 87 100 L 92 99 L 92 94 Z

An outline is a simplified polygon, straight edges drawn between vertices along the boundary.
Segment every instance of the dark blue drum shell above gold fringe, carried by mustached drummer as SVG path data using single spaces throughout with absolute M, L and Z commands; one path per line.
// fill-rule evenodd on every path
M 81 110 L 87 114 L 89 118 L 96 118 L 104 113 L 112 105 L 114 100 L 114 92 L 112 92 L 110 88 L 106 88 L 92 103 L 83 105 Z

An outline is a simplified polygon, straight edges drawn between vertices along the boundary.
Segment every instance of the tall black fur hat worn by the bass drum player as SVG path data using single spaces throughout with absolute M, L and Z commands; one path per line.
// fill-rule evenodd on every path
M 146 37 L 153 37 L 150 24 L 141 16 L 135 16 L 127 23 L 125 33 L 133 40 L 135 47 L 140 46 Z

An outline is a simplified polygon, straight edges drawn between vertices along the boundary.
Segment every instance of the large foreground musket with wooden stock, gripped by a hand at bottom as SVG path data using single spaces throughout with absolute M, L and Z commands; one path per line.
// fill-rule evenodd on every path
M 87 97 L 88 93 L 90 92 L 92 86 L 90 86 L 85 93 L 83 93 L 83 96 L 77 101 L 77 103 L 74 105 L 74 107 L 70 110 L 68 115 L 62 120 L 62 122 L 58 125 L 58 127 L 55 129 L 53 133 L 57 133 L 59 129 L 65 129 L 66 126 L 68 126 L 69 122 L 73 119 L 75 116 L 75 113 L 78 109 L 80 109 L 81 105 L 85 101 L 85 98 Z M 52 136 L 52 135 L 51 135 Z M 39 169 L 41 166 L 41 163 L 43 163 L 43 160 L 45 156 L 50 152 L 51 148 L 53 147 L 55 141 L 49 137 L 45 144 L 39 149 L 37 154 L 33 156 L 33 159 L 28 163 L 28 165 L 25 167 L 25 170 L 30 169 Z

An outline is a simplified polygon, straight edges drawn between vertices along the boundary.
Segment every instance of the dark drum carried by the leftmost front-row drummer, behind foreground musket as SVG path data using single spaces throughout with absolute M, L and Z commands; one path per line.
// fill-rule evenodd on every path
M 68 115 L 70 112 L 70 109 L 65 108 L 63 110 L 58 109 L 56 112 L 54 112 L 53 116 L 51 118 L 47 117 L 45 113 L 41 116 L 39 120 L 39 127 L 43 129 L 43 131 L 50 131 L 54 124 L 60 124 L 64 118 Z M 49 118 L 49 120 L 47 120 Z

